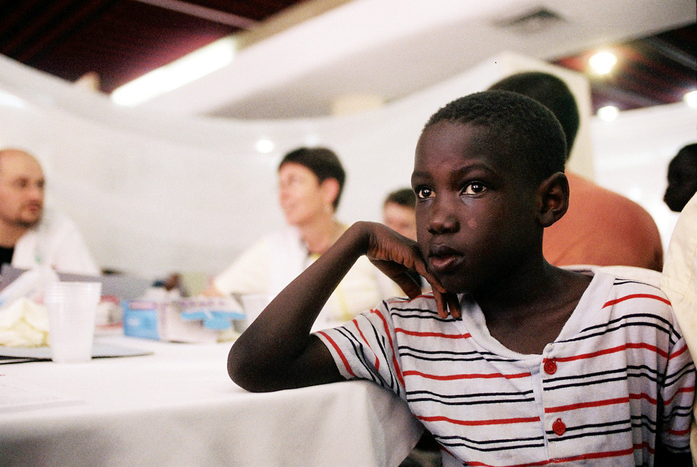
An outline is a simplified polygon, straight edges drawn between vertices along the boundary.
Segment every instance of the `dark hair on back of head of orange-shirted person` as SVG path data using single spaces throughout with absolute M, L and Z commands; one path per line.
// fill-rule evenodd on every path
M 579 106 L 574 93 L 562 79 L 541 71 L 516 73 L 489 87 L 490 90 L 513 91 L 533 98 L 552 111 L 562 125 L 567 139 L 567 158 L 579 132 Z

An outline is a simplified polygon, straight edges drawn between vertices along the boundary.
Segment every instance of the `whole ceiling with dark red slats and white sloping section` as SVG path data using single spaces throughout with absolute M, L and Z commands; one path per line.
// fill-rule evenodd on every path
M 109 93 L 237 34 L 245 48 L 232 66 L 150 104 L 233 118 L 326 115 L 350 93 L 389 102 L 506 49 L 581 72 L 595 49 L 612 49 L 616 70 L 589 75 L 595 109 L 677 102 L 697 89 L 694 0 L 589 3 L 0 0 L 0 53 L 71 82 L 95 73 Z

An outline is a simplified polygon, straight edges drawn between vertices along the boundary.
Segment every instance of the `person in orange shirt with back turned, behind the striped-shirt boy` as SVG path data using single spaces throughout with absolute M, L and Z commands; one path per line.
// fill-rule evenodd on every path
M 569 158 L 579 130 L 579 109 L 561 79 L 544 72 L 523 72 L 489 89 L 527 95 L 549 108 L 564 129 Z M 569 210 L 544 231 L 545 259 L 554 266 L 636 266 L 660 271 L 663 246 L 651 215 L 620 194 L 568 171 L 566 175 Z

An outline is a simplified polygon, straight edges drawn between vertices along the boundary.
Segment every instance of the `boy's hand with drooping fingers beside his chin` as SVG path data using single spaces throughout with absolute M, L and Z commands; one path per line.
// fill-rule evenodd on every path
M 368 259 L 406 293 L 409 298 L 421 295 L 421 287 L 406 271 L 415 270 L 431 284 L 438 308 L 438 316 L 447 318 L 448 309 L 453 318 L 461 316 L 457 296 L 449 293 L 431 274 L 421 256 L 418 244 L 397 234 L 389 227 L 376 222 L 361 222 L 369 233 L 365 255 Z

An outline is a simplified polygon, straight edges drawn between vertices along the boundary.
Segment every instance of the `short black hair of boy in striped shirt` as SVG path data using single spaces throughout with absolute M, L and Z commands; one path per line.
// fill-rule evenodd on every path
M 564 171 L 566 141 L 554 114 L 536 100 L 510 91 L 482 91 L 453 100 L 429 118 L 424 130 L 441 121 L 470 123 L 488 132 L 489 144 L 520 163 L 540 183 Z

